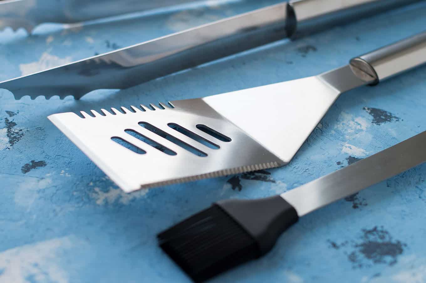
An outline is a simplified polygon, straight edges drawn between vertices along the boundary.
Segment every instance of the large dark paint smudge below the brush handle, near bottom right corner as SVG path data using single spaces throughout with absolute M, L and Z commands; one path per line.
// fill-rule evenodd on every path
M 363 230 L 363 242 L 354 245 L 355 251 L 348 255 L 348 259 L 356 264 L 357 267 L 363 267 L 363 260 L 372 261 L 374 264 L 381 263 L 389 266 L 397 263 L 397 257 L 404 252 L 406 244 L 399 240 L 393 240 L 388 231 L 383 226 L 375 226 L 371 230 Z

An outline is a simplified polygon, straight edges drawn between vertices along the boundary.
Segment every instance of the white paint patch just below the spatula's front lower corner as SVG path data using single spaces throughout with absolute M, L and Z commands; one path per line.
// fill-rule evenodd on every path
M 95 199 L 96 204 L 100 206 L 104 204 L 112 204 L 115 203 L 115 201 L 118 201 L 122 204 L 128 204 L 134 199 L 143 197 L 149 191 L 148 189 L 143 189 L 127 194 L 121 189 L 114 189 L 112 187 L 109 187 L 107 192 L 102 191 L 98 187 L 93 188 L 93 190 L 95 192 L 91 193 L 90 195 L 93 199 Z

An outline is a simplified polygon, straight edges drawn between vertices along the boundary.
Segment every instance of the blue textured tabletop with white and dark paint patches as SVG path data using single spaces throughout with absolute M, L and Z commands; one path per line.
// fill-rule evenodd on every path
M 0 80 L 276 2 L 229 1 L 69 31 L 43 25 L 32 36 L 7 29 Z M 342 95 L 288 166 L 134 194 L 121 192 L 47 115 L 318 74 L 422 31 L 425 15 L 423 2 L 80 101 L 16 101 L 1 89 L 0 282 L 189 282 L 155 234 L 213 201 L 285 192 L 426 130 L 426 67 Z M 426 164 L 309 214 L 267 256 L 212 282 L 426 282 L 425 179 Z

